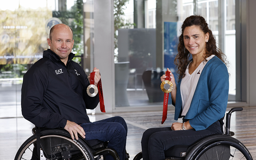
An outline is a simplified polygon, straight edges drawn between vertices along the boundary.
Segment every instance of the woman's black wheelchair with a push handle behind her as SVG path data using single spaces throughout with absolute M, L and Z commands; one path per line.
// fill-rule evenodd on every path
M 240 142 L 239 140 L 231 137 L 234 135 L 234 132 L 230 131 L 231 114 L 235 111 L 242 111 L 242 110 L 243 110 L 243 108 L 241 108 L 241 107 L 232 108 L 227 113 L 226 127 L 225 127 L 226 133 L 225 134 L 212 135 L 212 136 L 206 137 L 203 140 L 199 141 L 198 143 L 190 146 L 189 148 L 186 148 L 185 151 L 182 152 L 183 155 L 185 154 L 186 156 L 185 155 L 184 155 L 184 157 L 169 156 L 169 157 L 166 157 L 165 160 L 205 160 L 205 156 L 207 156 L 207 154 L 212 154 L 211 149 L 215 149 L 214 151 L 216 151 L 216 152 L 213 154 L 216 155 L 216 157 L 217 157 L 216 159 L 218 159 L 218 160 L 220 160 L 220 159 L 226 160 L 227 157 L 229 159 L 230 156 L 233 159 L 235 152 L 233 153 L 233 155 L 230 153 L 230 146 L 239 150 L 240 153 L 243 154 L 242 158 L 245 157 L 246 160 L 252 160 L 252 155 L 250 154 L 249 150 L 244 146 L 244 144 L 242 142 Z M 221 147 L 221 146 L 228 147 L 229 148 L 228 152 L 220 150 L 220 148 L 218 148 L 218 147 Z M 226 148 L 221 148 L 221 149 L 226 149 Z M 174 150 L 174 152 L 175 152 L 175 150 Z M 176 152 L 178 152 L 178 149 L 176 150 Z M 229 153 L 230 155 L 225 155 L 227 153 Z M 204 157 L 201 157 L 201 156 L 204 156 Z M 140 160 L 141 158 L 143 158 L 142 152 L 138 153 L 133 158 L 133 160 Z M 207 159 L 208 159 L 208 157 L 207 157 Z M 213 160 L 214 157 L 209 157 L 209 159 Z

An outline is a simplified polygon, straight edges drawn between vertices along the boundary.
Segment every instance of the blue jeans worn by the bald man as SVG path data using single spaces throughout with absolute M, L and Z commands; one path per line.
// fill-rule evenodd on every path
M 108 142 L 108 148 L 115 149 L 120 160 L 125 158 L 125 145 L 127 137 L 127 125 L 120 116 L 115 116 L 91 123 L 83 123 L 85 140 L 98 139 Z M 114 159 L 107 155 L 107 160 Z

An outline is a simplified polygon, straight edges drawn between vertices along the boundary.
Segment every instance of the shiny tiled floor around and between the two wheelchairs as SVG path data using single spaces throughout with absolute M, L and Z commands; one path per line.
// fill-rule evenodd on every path
M 230 109 L 230 108 L 229 108 Z M 227 110 L 229 110 L 227 109 Z M 150 127 L 170 126 L 173 122 L 173 109 L 168 111 L 165 123 L 161 124 L 162 111 L 125 112 L 113 114 L 90 115 L 91 121 L 122 116 L 128 124 L 127 152 L 130 160 L 141 151 L 140 140 L 142 133 Z M 256 157 L 256 107 L 244 107 L 241 112 L 233 113 L 231 131 L 235 138 L 244 143 L 252 157 Z M 180 121 L 180 120 L 179 120 Z M 0 119 L 0 160 L 13 160 L 21 144 L 32 135 L 33 124 L 24 118 Z

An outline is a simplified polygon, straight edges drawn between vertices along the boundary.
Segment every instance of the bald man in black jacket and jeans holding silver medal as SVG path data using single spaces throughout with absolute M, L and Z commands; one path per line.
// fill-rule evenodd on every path
M 64 128 L 72 139 L 78 139 L 78 133 L 85 140 L 108 141 L 108 147 L 115 149 L 124 160 L 127 136 L 124 119 L 116 116 L 91 123 L 86 114 L 86 109 L 97 107 L 99 95 L 87 95 L 86 88 L 90 85 L 87 75 L 72 61 L 75 55 L 71 53 L 72 29 L 65 24 L 53 26 L 47 42 L 50 49 L 44 51 L 43 58 L 23 77 L 22 115 L 38 127 Z M 97 68 L 93 68 L 93 72 L 97 86 L 100 72 Z

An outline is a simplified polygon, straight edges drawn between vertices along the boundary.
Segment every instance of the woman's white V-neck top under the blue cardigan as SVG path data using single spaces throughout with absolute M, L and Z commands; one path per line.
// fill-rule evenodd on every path
M 188 73 L 188 67 L 187 67 L 185 77 L 182 78 L 180 83 L 180 94 L 181 94 L 181 100 L 182 100 L 181 116 L 186 116 L 188 109 L 190 107 L 192 98 L 194 96 L 196 85 L 202 73 L 202 70 L 204 69 L 205 64 L 209 60 L 211 60 L 212 57 L 214 56 L 215 55 L 211 55 L 210 57 L 207 57 L 206 58 L 207 61 L 203 60 L 191 75 Z

